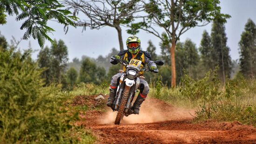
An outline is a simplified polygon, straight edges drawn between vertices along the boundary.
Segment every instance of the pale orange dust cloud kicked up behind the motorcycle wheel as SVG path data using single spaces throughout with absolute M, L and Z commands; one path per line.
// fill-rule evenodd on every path
M 166 120 L 180 120 L 193 118 L 195 110 L 187 110 L 173 107 L 163 101 L 155 98 L 148 98 L 142 103 L 139 115 L 130 115 L 124 117 L 122 124 L 131 123 L 154 123 Z M 114 124 L 117 112 L 109 110 L 106 114 L 98 119 L 100 124 Z

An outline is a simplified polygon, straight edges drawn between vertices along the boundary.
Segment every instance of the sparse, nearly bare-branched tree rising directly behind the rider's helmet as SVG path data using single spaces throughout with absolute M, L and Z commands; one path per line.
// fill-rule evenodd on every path
M 81 20 L 76 23 L 79 27 L 100 29 L 101 27 L 113 27 L 118 32 L 120 50 L 124 49 L 121 25 L 133 21 L 136 13 L 142 12 L 143 7 L 138 0 L 64 0 L 74 14 L 82 12 L 90 20 Z

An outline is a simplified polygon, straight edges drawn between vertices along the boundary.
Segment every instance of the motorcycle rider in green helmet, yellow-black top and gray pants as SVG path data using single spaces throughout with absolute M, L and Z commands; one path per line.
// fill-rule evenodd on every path
M 145 67 L 145 64 L 147 64 L 148 68 L 151 70 L 155 70 L 156 64 L 151 60 L 151 55 L 147 51 L 140 50 L 140 40 L 137 36 L 130 36 L 126 40 L 126 46 L 127 50 L 121 50 L 118 55 L 115 55 L 114 57 L 116 59 L 123 59 L 125 61 L 130 62 L 131 58 L 138 59 L 142 61 L 141 68 Z M 112 64 L 118 64 L 117 61 L 112 61 Z M 125 71 L 126 68 L 124 66 L 123 70 Z M 114 76 L 112 76 L 111 79 L 111 85 L 110 85 L 110 94 L 107 102 L 107 106 L 111 107 L 113 104 L 113 101 L 116 96 L 117 88 L 118 88 L 118 82 L 120 77 L 122 76 L 122 73 L 118 73 Z M 144 71 L 139 72 L 139 76 L 143 76 Z M 140 78 L 139 79 L 139 87 L 140 90 L 137 99 L 135 100 L 132 110 L 134 114 L 139 114 L 139 108 L 143 101 L 145 101 L 145 98 L 147 94 L 149 93 L 149 86 L 148 83 Z

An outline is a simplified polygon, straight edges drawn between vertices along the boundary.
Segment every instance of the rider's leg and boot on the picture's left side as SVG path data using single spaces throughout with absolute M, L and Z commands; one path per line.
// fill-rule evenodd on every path
M 109 98 L 108 98 L 108 102 L 107 102 L 107 106 L 111 107 L 113 102 L 114 102 L 114 99 L 115 99 L 115 96 L 116 96 L 116 93 L 117 93 L 117 88 L 118 88 L 118 79 L 121 77 L 122 73 L 118 73 L 114 76 L 112 76 L 112 79 L 111 79 L 111 84 L 110 84 L 110 87 L 109 87 Z

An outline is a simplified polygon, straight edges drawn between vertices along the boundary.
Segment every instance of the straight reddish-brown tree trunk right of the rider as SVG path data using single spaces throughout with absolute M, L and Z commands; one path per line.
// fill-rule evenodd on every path
M 175 38 L 172 39 L 171 51 L 171 68 L 172 68 L 172 88 L 176 86 L 176 66 L 175 66 Z

